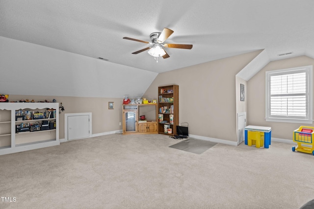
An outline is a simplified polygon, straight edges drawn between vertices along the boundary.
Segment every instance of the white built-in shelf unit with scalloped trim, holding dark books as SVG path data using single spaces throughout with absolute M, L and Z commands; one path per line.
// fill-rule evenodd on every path
M 0 103 L 0 155 L 59 145 L 59 103 Z

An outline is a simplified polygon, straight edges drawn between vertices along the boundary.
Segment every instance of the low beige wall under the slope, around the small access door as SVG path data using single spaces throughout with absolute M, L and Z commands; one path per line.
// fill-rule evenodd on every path
M 64 114 L 92 113 L 92 134 L 101 134 L 122 130 L 122 98 L 72 97 L 72 96 L 36 96 L 36 95 L 9 95 L 9 101 L 34 99 L 62 102 L 65 111 L 59 114 L 59 139 L 64 139 Z M 114 109 L 108 109 L 108 102 L 114 102 Z

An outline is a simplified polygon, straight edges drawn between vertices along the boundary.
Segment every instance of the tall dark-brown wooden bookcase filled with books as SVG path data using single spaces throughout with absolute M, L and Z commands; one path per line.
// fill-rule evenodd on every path
M 169 136 L 177 135 L 179 125 L 179 86 L 168 85 L 158 87 L 158 133 Z M 172 133 L 166 131 L 170 127 Z

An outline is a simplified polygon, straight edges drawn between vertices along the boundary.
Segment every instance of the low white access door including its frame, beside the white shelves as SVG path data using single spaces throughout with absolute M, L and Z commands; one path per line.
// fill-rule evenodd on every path
M 89 114 L 66 114 L 65 126 L 67 140 L 89 138 L 92 135 L 91 113 Z M 65 136 L 65 137 L 66 137 Z

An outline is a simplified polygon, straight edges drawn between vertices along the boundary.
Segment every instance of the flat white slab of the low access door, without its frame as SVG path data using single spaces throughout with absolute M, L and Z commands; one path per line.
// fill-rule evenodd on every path
M 68 116 L 68 140 L 89 137 L 89 115 Z

